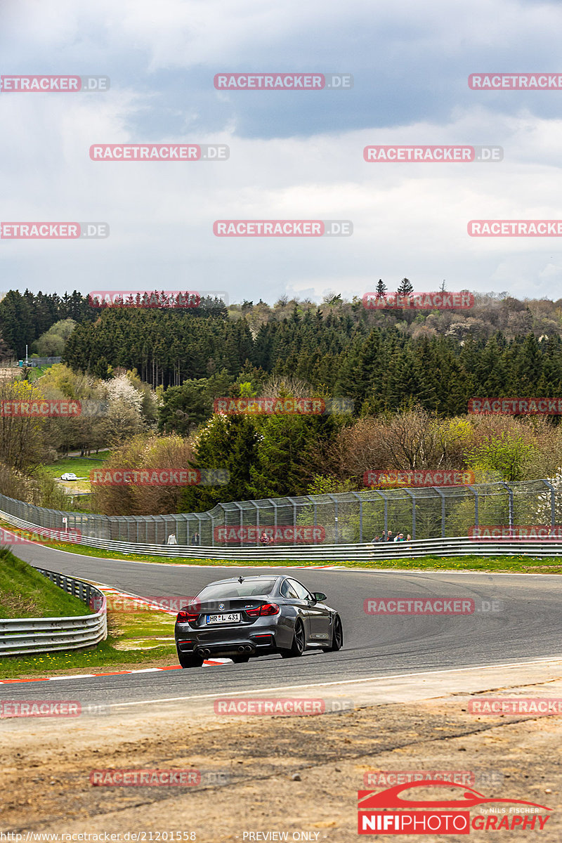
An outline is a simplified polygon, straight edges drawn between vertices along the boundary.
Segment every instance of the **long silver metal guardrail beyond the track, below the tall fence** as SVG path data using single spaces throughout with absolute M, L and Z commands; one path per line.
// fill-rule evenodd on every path
M 14 518 L 0 511 L 0 519 L 20 529 L 33 532 L 36 524 Z M 68 540 L 70 544 L 70 538 Z M 151 545 L 110 541 L 82 535 L 73 544 L 113 550 L 115 553 L 142 556 L 167 556 L 179 559 L 260 562 L 284 560 L 302 562 L 372 561 L 420 559 L 423 556 L 560 556 L 562 539 L 553 540 L 474 540 L 468 536 L 452 539 L 418 539 L 397 542 L 372 542 L 346 545 L 267 545 L 266 547 L 224 547 L 211 545 Z M 17 545 L 16 545 L 17 546 Z M 16 550 L 17 553 L 17 550 Z M 59 575 L 60 576 L 60 575 Z

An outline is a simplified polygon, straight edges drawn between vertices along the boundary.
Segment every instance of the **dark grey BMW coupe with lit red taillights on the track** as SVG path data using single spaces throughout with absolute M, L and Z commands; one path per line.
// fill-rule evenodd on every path
M 302 656 L 307 648 L 340 650 L 340 615 L 293 577 L 233 577 L 203 588 L 181 611 L 175 643 L 182 668 L 197 668 L 206 658 L 249 658 L 279 652 Z

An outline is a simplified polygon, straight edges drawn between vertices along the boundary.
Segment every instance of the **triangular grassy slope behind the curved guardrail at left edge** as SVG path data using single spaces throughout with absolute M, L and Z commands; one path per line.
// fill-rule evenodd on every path
M 67 594 L 8 548 L 0 550 L 0 618 L 58 618 L 89 615 L 78 597 Z

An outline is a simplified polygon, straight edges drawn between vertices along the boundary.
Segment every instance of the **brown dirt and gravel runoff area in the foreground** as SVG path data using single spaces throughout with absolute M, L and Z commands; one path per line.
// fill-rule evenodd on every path
M 107 707 L 84 711 L 80 717 L 3 720 L 0 830 L 22 833 L 24 841 L 48 833 L 56 836 L 45 840 L 62 843 L 346 843 L 358 839 L 358 790 L 390 787 L 395 783 L 393 772 L 452 771 L 457 781 L 486 797 L 552 808 L 538 840 L 562 839 L 562 715 L 474 715 L 468 705 L 490 696 L 562 698 L 562 661 L 404 674 L 343 685 L 334 679 L 331 685 L 273 693 L 249 689 L 231 697 L 238 703 L 247 697 L 263 701 L 273 696 L 306 698 L 309 705 L 323 700 L 336 710 L 316 716 L 217 713 L 212 694 L 192 695 L 189 706 L 177 692 L 166 701 L 163 679 L 161 701 L 111 706 L 108 698 Z M 60 685 L 61 698 L 72 697 L 65 682 Z M 39 684 L 28 688 L 28 700 L 40 698 Z M 191 786 L 90 783 L 92 771 L 119 769 L 198 772 L 190 776 Z M 384 771 L 383 779 L 373 771 Z M 448 788 L 447 794 L 452 795 Z M 429 797 L 427 789 L 420 797 Z M 484 810 L 490 813 L 489 806 L 472 808 L 471 817 Z M 492 824 L 500 822 L 500 816 L 492 817 Z M 537 833 L 518 831 L 517 839 Z M 507 832 L 507 840 L 511 834 Z M 493 830 L 471 830 L 470 835 L 471 840 L 495 839 Z M 465 838 L 422 839 L 450 843 Z

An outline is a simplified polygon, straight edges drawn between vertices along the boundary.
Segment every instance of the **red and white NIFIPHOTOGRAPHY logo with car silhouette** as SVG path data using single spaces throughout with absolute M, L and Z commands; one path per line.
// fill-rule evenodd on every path
M 420 799 L 420 787 L 436 787 L 436 797 Z M 457 796 L 446 798 L 443 787 L 455 788 Z M 412 794 L 403 796 L 404 791 Z M 524 799 L 488 798 L 471 787 L 439 780 L 406 782 L 380 792 L 358 791 L 357 798 L 360 835 L 469 835 L 471 829 L 542 831 L 550 818 L 543 812 L 552 810 Z M 481 808 L 484 805 L 490 808 Z M 477 809 L 474 816 L 470 808 Z

